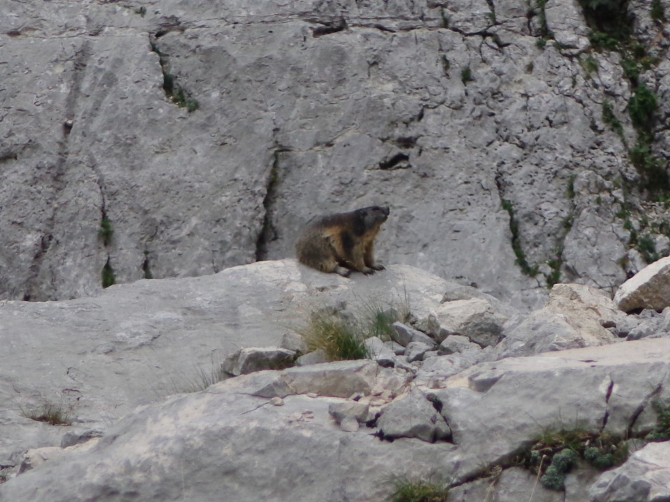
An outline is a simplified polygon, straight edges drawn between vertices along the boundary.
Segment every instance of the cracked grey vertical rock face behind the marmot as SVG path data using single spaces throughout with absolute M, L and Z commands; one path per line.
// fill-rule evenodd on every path
M 657 55 L 647 3 L 625 6 Z M 315 215 L 371 203 L 386 264 L 526 307 L 556 275 L 611 289 L 630 228 L 668 240 L 638 205 L 634 89 L 590 28 L 521 0 L 3 1 L 0 298 L 290 257 Z M 662 97 L 659 61 L 638 80 Z

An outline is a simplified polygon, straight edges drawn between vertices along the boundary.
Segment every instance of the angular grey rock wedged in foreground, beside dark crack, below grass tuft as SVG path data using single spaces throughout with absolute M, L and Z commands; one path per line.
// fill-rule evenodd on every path
M 396 398 L 384 409 L 377 425 L 385 439 L 410 437 L 434 443 L 451 437 L 445 419 L 420 391 Z

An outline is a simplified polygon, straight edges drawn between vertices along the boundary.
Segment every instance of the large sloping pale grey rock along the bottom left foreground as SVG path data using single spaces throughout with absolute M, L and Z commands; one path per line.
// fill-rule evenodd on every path
M 408 462 L 403 471 L 409 476 L 456 466 L 449 455 L 456 448 L 449 443 L 388 443 L 368 430 L 333 427 L 327 398 L 288 396 L 284 406 L 271 406 L 237 386 L 228 390 L 244 378 L 137 409 L 110 427 L 95 448 L 3 483 L 0 498 L 34 501 L 35 493 L 47 490 L 52 501 L 114 502 L 127 500 L 132 489 L 141 501 L 207 501 L 225 493 L 236 501 L 268 494 L 282 501 L 364 502 L 392 494 L 393 483 L 378 478 L 389 462 Z M 346 462 L 333 462 L 334 451 Z M 217 466 L 215 475 L 207 465 Z

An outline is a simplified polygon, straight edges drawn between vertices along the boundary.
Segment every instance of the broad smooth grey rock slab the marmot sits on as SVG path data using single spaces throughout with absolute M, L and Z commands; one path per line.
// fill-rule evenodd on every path
M 0 402 L 8 403 L 0 409 L 0 460 L 58 446 L 73 428 L 107 429 L 135 406 L 207 387 L 225 356 L 277 347 L 319 308 L 353 308 L 361 298 L 395 305 L 406 293 L 412 310 L 428 312 L 454 287 L 461 288 L 410 266 L 345 279 L 286 259 L 120 284 L 91 298 L 0 301 Z M 73 426 L 22 413 L 46 402 L 61 406 Z

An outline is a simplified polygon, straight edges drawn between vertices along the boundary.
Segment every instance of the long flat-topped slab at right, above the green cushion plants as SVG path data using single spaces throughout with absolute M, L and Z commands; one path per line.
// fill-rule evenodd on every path
M 467 474 L 482 459 L 508 459 L 546 429 L 651 429 L 650 400 L 670 397 L 669 353 L 666 338 L 507 358 L 470 367 L 431 392 Z

